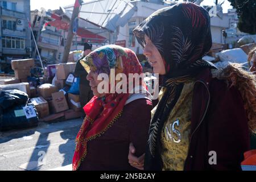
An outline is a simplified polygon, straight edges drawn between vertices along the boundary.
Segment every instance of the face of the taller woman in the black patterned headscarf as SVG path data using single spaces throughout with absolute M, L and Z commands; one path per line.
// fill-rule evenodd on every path
M 150 38 L 145 35 L 146 46 L 144 47 L 143 54 L 147 56 L 148 63 L 153 67 L 154 73 L 159 75 L 166 75 L 166 68 L 164 67 L 164 60 L 160 55 L 158 49 L 152 43 Z

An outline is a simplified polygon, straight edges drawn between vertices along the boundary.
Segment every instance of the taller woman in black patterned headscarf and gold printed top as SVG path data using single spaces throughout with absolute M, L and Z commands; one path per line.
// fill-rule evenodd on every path
M 249 150 L 248 120 L 238 89 L 213 78 L 216 67 L 202 60 L 212 47 L 208 12 L 187 2 L 165 7 L 134 35 L 163 83 L 146 156 L 134 156 L 131 144 L 130 164 L 147 170 L 240 169 Z

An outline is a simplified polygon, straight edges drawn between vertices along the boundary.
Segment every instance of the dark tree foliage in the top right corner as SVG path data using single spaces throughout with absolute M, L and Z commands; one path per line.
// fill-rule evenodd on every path
M 237 9 L 238 24 L 241 32 L 256 34 L 256 1 L 228 0 Z

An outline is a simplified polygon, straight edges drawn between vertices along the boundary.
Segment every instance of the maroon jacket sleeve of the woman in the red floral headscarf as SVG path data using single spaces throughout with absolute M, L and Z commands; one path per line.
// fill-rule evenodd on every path
M 135 155 L 141 156 L 146 151 L 148 129 L 151 121 L 152 102 L 146 99 L 135 101 L 133 121 L 131 121 L 130 142 L 136 148 Z M 132 103 L 132 102 L 131 102 Z

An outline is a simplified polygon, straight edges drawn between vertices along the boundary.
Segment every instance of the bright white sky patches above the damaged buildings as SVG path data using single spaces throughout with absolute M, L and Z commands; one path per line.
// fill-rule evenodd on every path
M 182 0 L 179 0 L 182 2 Z M 224 2 L 222 5 L 224 13 L 228 12 L 228 9 L 232 9 L 232 6 L 230 6 L 230 2 L 228 0 L 218 0 L 218 2 Z M 86 2 L 86 0 L 84 0 Z M 204 0 L 201 5 L 214 5 L 215 0 Z M 59 9 L 60 6 L 64 7 L 67 5 L 72 5 L 75 3 L 75 0 L 30 0 L 30 6 L 31 10 L 38 9 L 40 10 L 41 7 L 44 7 L 44 9 L 48 10 L 56 10 Z

